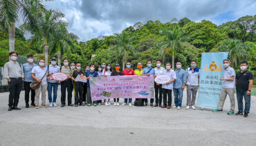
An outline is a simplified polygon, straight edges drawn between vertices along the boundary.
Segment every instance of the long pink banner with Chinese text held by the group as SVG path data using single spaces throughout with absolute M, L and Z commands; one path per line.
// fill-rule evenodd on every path
M 91 100 L 154 98 L 154 76 L 101 76 L 90 79 Z

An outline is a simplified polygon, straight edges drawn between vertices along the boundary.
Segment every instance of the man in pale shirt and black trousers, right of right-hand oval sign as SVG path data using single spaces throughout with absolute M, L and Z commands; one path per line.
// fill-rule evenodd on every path
M 163 75 L 167 75 L 170 77 L 170 81 L 162 85 L 163 90 L 163 106 L 162 108 L 170 109 L 172 106 L 172 88 L 173 83 L 176 80 L 176 74 L 174 70 L 171 69 L 171 63 L 166 63 L 166 70 L 163 72 Z M 168 101 L 167 101 L 168 95 Z

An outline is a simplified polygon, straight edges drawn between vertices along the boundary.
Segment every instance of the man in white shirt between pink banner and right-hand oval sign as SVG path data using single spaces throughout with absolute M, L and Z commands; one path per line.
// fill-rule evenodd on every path
M 154 70 L 155 70 L 155 75 L 154 75 L 155 78 L 156 76 L 163 74 L 163 72 L 165 71 L 165 68 L 161 67 L 161 60 L 156 61 L 156 67 L 154 68 Z M 157 107 L 158 104 L 159 104 L 159 107 L 162 107 L 162 84 L 154 82 L 154 87 L 155 87 L 155 99 L 156 99 L 155 107 Z M 158 93 L 159 93 L 159 98 L 158 98 Z

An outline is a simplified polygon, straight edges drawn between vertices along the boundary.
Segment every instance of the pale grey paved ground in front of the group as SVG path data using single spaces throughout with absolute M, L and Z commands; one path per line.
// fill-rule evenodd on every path
M 8 112 L 8 93 L 0 93 L 0 145 L 255 145 L 256 142 L 255 97 L 248 118 L 228 116 L 228 98 L 223 113 L 184 107 L 181 110 L 113 105 L 62 108 L 60 88 L 57 101 L 58 107 L 26 109 L 22 91 L 21 110 Z M 183 106 L 185 101 L 186 96 Z

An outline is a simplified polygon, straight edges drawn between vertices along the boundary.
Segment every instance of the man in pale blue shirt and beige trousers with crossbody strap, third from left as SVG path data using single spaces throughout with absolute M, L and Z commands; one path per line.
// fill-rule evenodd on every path
M 40 87 L 35 90 L 35 109 L 39 108 L 39 98 L 42 92 L 42 107 L 46 108 L 46 89 L 47 89 L 47 79 L 46 75 L 48 68 L 44 66 L 44 59 L 39 60 L 39 66 L 33 67 L 31 71 L 31 76 L 35 81 L 40 83 Z

